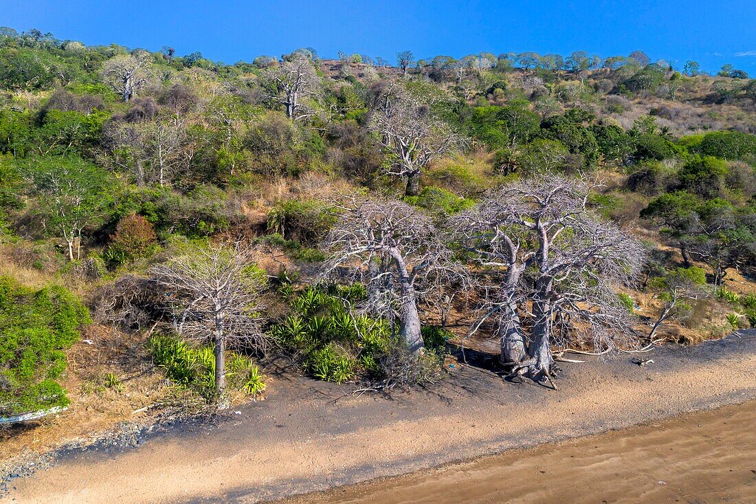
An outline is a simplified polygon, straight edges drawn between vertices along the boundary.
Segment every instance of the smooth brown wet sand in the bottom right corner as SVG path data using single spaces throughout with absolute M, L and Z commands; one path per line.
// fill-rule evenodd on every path
M 756 402 L 284 502 L 756 502 Z

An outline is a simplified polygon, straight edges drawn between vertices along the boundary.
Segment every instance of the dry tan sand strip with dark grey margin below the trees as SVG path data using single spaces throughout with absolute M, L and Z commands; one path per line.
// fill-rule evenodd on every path
M 469 366 L 391 400 L 281 378 L 218 428 L 65 456 L 0 502 L 255 502 L 756 398 L 756 331 L 648 356 L 565 364 L 558 391 Z

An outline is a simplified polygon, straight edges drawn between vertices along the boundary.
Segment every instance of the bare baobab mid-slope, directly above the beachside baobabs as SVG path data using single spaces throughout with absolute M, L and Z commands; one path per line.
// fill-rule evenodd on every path
M 433 117 L 430 107 L 395 82 L 376 89 L 370 129 L 389 151 L 387 173 L 407 179 L 407 196 L 417 196 L 420 174 L 432 160 L 463 143 L 446 123 Z

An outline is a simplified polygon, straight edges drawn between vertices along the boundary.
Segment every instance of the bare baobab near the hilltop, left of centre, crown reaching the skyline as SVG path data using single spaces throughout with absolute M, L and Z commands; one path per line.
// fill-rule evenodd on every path
M 313 114 L 311 107 L 302 103 L 318 94 L 318 74 L 308 52 L 294 52 L 279 66 L 265 70 L 262 84 L 271 101 L 286 107 L 289 119 L 302 120 Z

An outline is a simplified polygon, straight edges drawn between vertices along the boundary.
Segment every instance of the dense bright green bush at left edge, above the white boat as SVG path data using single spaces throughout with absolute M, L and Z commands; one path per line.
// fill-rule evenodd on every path
M 66 369 L 65 350 L 90 322 L 65 288 L 35 291 L 0 277 L 0 415 L 67 406 L 57 379 Z

